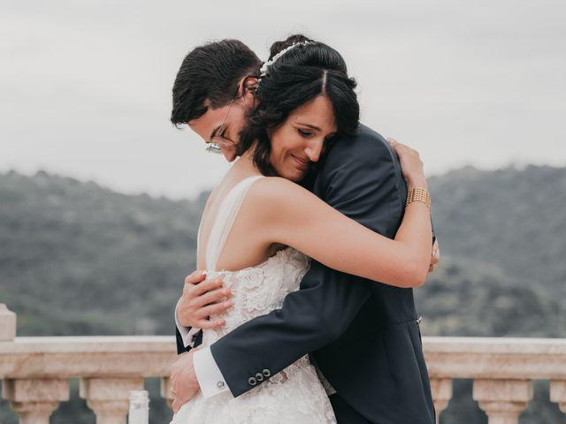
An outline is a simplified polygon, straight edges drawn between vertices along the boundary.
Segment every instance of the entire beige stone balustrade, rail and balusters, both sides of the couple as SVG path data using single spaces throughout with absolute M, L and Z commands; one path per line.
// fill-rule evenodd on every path
M 8 321 L 15 325 L 0 305 L 0 336 L 12 334 L 3 329 Z M 550 381 L 550 400 L 566 413 L 564 339 L 423 337 L 423 344 L 437 414 L 454 378 L 473 379 L 473 398 L 489 424 L 516 423 L 535 379 Z M 175 352 L 174 337 L 0 337 L 3 397 L 20 423 L 47 424 L 69 397 L 69 379 L 78 377 L 97 423 L 125 423 L 128 392 L 142 389 L 144 377 L 161 377 L 162 396 L 170 396 Z

